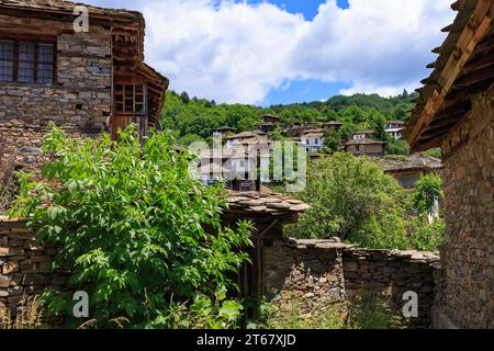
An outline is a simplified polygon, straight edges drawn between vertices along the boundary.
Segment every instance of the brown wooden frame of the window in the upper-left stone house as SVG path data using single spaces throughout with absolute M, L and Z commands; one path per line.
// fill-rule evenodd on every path
M 55 86 L 57 83 L 57 71 L 58 71 L 58 59 L 57 59 L 57 38 L 54 36 L 40 36 L 40 35 L 4 35 L 0 34 L 0 41 L 3 42 L 12 42 L 13 43 L 13 61 L 12 61 L 12 81 L 0 80 L 0 84 L 23 84 L 23 86 Z M 21 42 L 32 43 L 34 44 L 34 68 L 33 68 L 33 82 L 21 82 L 19 81 L 19 61 L 20 61 L 20 53 L 19 46 Z M 38 66 L 40 64 L 40 44 L 49 44 L 53 45 L 53 72 L 52 72 L 52 82 L 50 83 L 42 83 L 37 81 L 38 76 Z M 44 63 L 45 64 L 45 63 Z

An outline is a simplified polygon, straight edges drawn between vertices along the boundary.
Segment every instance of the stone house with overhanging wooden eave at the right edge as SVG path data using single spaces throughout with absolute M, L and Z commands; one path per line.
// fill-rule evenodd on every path
M 494 2 L 460 0 L 406 138 L 442 150 L 447 241 L 436 328 L 494 328 Z

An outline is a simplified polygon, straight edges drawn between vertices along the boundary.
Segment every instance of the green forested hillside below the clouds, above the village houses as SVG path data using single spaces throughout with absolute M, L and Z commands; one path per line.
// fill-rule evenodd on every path
M 334 97 L 326 102 L 296 103 L 259 107 L 244 104 L 216 104 L 214 101 L 190 98 L 186 92 L 167 92 L 162 113 L 162 125 L 177 133 L 182 144 L 199 138 L 209 138 L 220 126 L 231 126 L 244 132 L 255 128 L 259 115 L 273 113 L 285 124 L 339 121 L 344 123 L 341 137 L 359 129 L 380 129 L 389 120 L 405 120 L 414 106 L 415 93 L 393 98 L 377 94 Z M 379 131 L 378 131 L 379 132 Z M 379 133 L 378 133 L 379 134 Z

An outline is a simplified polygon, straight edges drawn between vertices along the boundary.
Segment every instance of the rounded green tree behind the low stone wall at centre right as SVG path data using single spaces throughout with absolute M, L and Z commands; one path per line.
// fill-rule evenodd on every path
M 308 169 L 300 197 L 311 205 L 287 234 L 300 238 L 337 236 L 368 248 L 406 249 L 405 193 L 374 163 L 336 152 Z

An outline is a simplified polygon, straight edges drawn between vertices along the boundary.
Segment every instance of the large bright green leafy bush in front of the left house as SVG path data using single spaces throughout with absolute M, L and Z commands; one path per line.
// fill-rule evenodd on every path
M 168 134 L 153 133 L 144 145 L 134 128 L 117 143 L 108 135 L 78 141 L 54 127 L 43 150 L 53 161 L 43 181 L 23 182 L 14 214 L 60 247 L 56 264 L 71 273 L 70 290 L 89 294 L 96 325 L 124 318 L 127 327 L 173 327 L 164 324 L 171 302 L 235 288 L 227 275 L 247 259 L 238 248 L 251 245 L 250 226 L 221 226 L 223 189 L 192 179 L 189 157 L 175 152 Z M 81 322 L 71 318 L 70 294 L 44 297 L 69 327 Z

